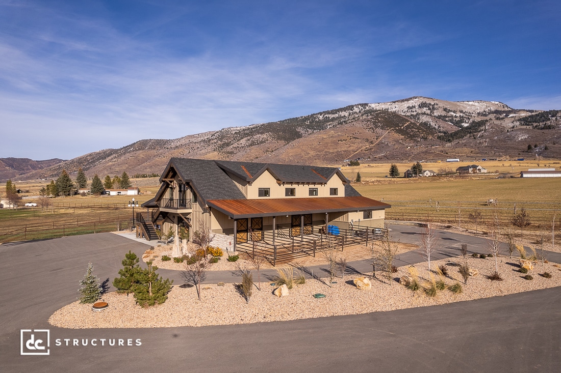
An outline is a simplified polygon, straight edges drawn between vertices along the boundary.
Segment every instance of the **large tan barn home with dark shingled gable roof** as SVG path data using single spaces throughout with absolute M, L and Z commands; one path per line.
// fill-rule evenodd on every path
M 315 253 L 328 236 L 342 245 L 373 239 L 390 207 L 362 197 L 335 167 L 171 158 L 160 183 L 137 214 L 137 234 L 151 240 L 155 227 L 171 228 L 175 255 L 180 230 L 192 240 L 206 229 L 222 249 L 259 242 L 275 252 L 299 245 Z

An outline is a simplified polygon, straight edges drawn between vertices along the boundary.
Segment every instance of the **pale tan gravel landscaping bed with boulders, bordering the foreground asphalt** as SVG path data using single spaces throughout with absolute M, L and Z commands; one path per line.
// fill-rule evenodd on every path
M 264 321 L 286 321 L 307 318 L 319 318 L 335 315 L 364 314 L 376 311 L 390 311 L 411 307 L 446 304 L 450 302 L 470 301 L 473 299 L 502 296 L 511 293 L 538 290 L 561 286 L 561 267 L 554 263 L 536 264 L 529 273 L 532 280 L 522 278 L 518 272 L 518 260 L 499 257 L 499 273 L 504 281 L 490 281 L 485 275 L 495 271 L 494 258 L 466 258 L 470 268 L 479 271 L 479 276 L 470 277 L 467 285 L 458 272 L 457 265 L 462 258 L 443 259 L 431 262 L 431 268 L 444 264 L 448 268 L 445 277 L 447 285 L 456 281 L 462 283 L 463 292 L 452 293 L 449 290 L 438 292 L 435 297 L 425 295 L 424 291 L 413 292 L 392 281 L 391 285 L 384 273 L 377 272 L 378 278 L 372 278 L 371 290 L 358 290 L 352 280 L 360 275 L 345 276 L 335 279 L 337 283 L 329 286 L 329 279 L 307 279 L 304 285 L 295 285 L 286 297 L 273 295 L 274 286 L 261 278 L 261 291 L 253 288 L 249 304 L 238 292 L 235 284 L 224 286 L 201 285 L 201 301 L 197 300 L 195 287 L 181 288 L 175 284 L 169 292 L 168 300 L 158 306 L 141 308 L 135 304 L 132 295 L 116 292 L 107 293 L 103 301 L 109 307 L 102 312 L 94 312 L 91 305 L 73 302 L 62 307 L 49 318 L 49 323 L 61 328 L 163 328 L 163 327 L 201 327 L 204 325 L 228 325 L 259 323 Z M 420 283 L 424 285 L 429 279 L 426 263 L 416 264 Z M 542 277 L 544 272 L 552 274 L 551 278 Z M 407 267 L 398 268 L 393 278 L 409 274 Z M 254 276 L 257 283 L 257 278 Z M 315 299 L 315 293 L 326 297 Z

